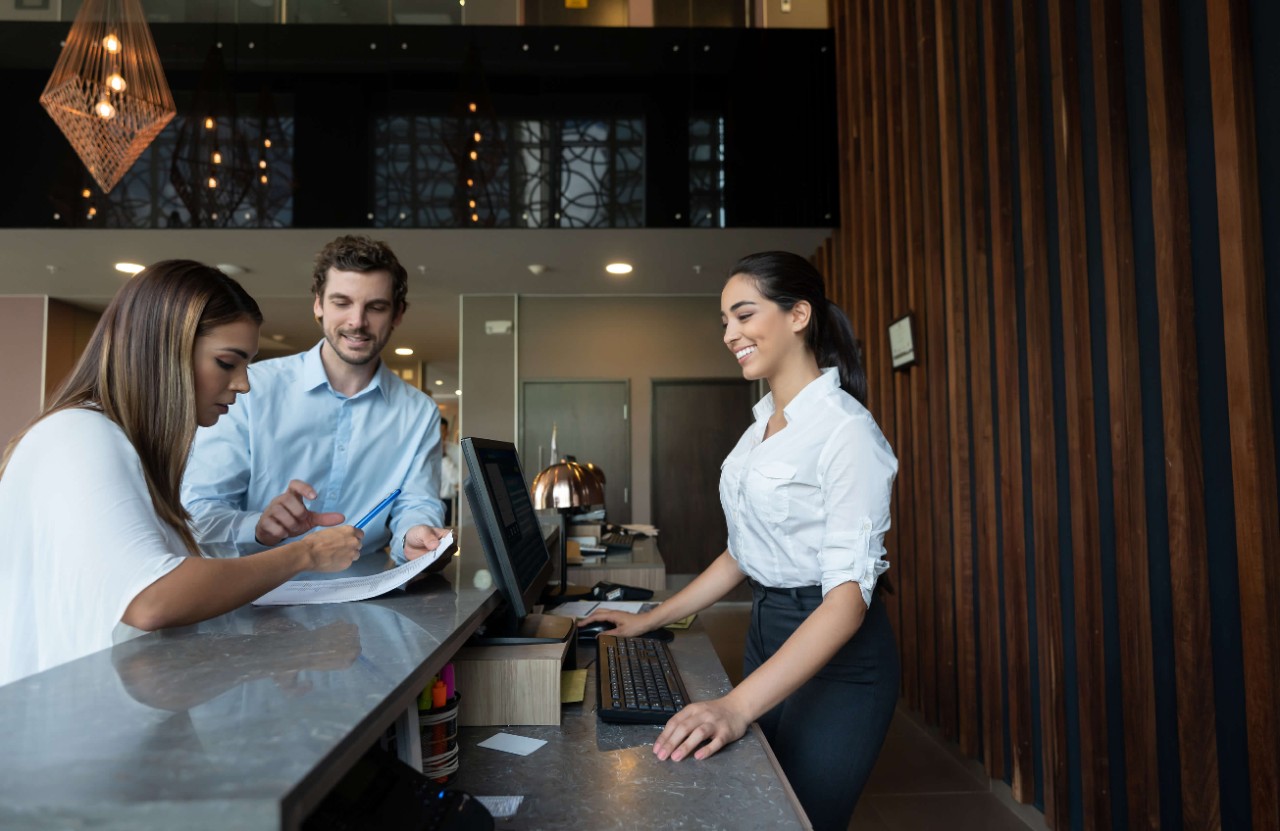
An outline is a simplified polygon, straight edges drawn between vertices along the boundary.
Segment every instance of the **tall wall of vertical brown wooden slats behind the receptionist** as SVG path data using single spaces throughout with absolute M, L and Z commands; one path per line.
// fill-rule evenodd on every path
M 1280 149 L 1249 8 L 831 0 L 841 223 L 814 261 L 901 462 L 902 700 L 1055 828 L 1280 828 Z

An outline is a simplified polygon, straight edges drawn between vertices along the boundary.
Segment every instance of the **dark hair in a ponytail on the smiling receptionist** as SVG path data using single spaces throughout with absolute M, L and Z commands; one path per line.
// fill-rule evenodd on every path
M 785 311 L 806 301 L 812 309 L 805 346 L 813 352 L 818 366 L 835 366 L 840 373 L 840 387 L 867 406 L 867 371 L 863 369 L 861 350 L 854 337 L 854 327 L 836 303 L 827 300 L 822 275 L 804 257 L 787 251 L 762 251 L 737 261 L 730 277 L 742 274 L 755 282 L 765 298 Z

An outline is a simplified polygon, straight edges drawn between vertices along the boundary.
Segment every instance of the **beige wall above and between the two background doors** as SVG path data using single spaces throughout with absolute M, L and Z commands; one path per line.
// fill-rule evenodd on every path
M 521 382 L 631 382 L 631 517 L 649 522 L 653 380 L 740 376 L 719 298 L 522 296 L 520 325 Z

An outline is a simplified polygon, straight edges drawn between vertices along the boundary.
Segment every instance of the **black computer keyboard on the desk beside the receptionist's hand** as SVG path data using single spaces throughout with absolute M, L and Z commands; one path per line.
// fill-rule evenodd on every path
M 689 703 L 685 681 L 660 640 L 600 634 L 595 648 L 603 721 L 663 725 Z

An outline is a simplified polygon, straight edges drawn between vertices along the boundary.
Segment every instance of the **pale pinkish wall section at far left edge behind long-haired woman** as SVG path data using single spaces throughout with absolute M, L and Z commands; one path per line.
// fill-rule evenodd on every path
M 45 297 L 0 297 L 0 452 L 40 415 L 45 401 Z

